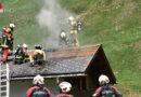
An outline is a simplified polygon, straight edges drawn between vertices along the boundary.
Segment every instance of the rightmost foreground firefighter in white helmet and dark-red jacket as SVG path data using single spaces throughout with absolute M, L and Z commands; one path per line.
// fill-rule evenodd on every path
M 99 77 L 99 82 L 101 86 L 97 88 L 92 97 L 123 97 L 116 87 L 111 86 L 106 75 L 101 74 Z

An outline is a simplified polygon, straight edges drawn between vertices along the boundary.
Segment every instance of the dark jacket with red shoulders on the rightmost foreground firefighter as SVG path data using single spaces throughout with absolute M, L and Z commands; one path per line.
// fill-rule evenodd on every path
M 110 84 L 105 84 L 99 87 L 92 97 L 123 97 L 123 96 L 116 87 L 111 86 Z

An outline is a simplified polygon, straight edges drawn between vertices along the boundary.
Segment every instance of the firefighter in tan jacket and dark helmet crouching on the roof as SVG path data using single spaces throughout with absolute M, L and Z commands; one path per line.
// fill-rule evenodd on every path
M 44 65 L 46 63 L 46 53 L 42 50 L 41 45 L 35 45 L 34 54 L 29 56 L 30 65 Z

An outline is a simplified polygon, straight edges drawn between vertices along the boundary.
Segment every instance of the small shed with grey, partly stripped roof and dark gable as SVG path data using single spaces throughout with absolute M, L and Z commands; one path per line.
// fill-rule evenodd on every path
M 33 78 L 41 74 L 46 78 L 47 86 L 53 97 L 59 94 L 56 79 L 72 83 L 72 94 L 75 97 L 91 97 L 99 86 L 99 75 L 106 74 L 112 84 L 116 83 L 101 44 L 46 50 L 47 63 L 44 67 L 29 67 L 10 64 L 11 96 L 25 97 L 26 91 L 31 86 Z M 20 96 L 21 95 L 21 96 Z

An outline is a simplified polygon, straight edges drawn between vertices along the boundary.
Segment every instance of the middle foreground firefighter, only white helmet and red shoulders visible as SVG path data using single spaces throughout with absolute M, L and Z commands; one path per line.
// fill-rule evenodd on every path
M 68 94 L 72 89 L 72 84 L 68 82 L 62 82 L 59 85 L 61 93 L 55 97 L 74 97 L 73 95 Z

